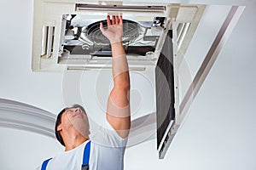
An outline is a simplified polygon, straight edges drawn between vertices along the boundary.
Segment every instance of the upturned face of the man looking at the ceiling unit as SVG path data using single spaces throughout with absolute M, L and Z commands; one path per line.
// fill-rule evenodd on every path
M 89 139 L 88 117 L 80 107 L 73 107 L 64 111 L 61 116 L 59 130 L 69 132 L 79 132 L 85 138 Z

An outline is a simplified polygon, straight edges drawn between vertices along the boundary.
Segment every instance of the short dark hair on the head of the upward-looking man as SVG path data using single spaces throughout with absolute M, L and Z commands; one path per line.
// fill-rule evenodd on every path
M 61 116 L 62 114 L 67 111 L 68 109 L 72 109 L 72 108 L 76 108 L 79 107 L 82 111 L 84 111 L 84 113 L 86 114 L 84 107 L 82 105 L 73 105 L 72 107 L 66 107 L 64 109 L 62 109 L 60 111 L 60 113 L 58 114 L 57 118 L 56 118 L 56 122 L 55 122 L 55 137 L 56 139 L 58 139 L 58 141 L 65 146 L 64 140 L 62 139 L 61 133 L 60 131 L 57 130 L 57 127 L 61 124 Z

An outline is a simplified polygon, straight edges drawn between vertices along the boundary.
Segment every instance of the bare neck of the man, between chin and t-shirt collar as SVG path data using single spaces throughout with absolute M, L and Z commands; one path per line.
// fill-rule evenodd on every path
M 73 150 L 74 148 L 78 147 L 80 144 L 83 144 L 87 138 L 85 138 L 83 135 L 72 135 L 66 138 L 65 140 L 65 151 Z

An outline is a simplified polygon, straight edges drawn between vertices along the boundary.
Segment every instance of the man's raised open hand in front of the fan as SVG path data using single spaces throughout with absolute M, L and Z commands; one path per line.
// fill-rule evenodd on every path
M 122 16 L 112 16 L 112 20 L 110 20 L 110 16 L 107 16 L 107 24 L 108 29 L 104 29 L 102 23 L 100 24 L 100 29 L 102 34 L 105 37 L 108 37 L 110 43 L 122 42 L 123 37 L 123 18 Z

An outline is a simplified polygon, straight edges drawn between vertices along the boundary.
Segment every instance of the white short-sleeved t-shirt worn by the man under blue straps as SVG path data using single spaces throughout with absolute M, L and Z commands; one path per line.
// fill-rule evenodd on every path
M 106 121 L 96 134 L 90 135 L 90 170 L 122 170 L 127 139 L 122 139 Z M 81 170 L 84 147 L 88 141 L 73 150 L 65 151 L 53 157 L 46 170 Z M 40 165 L 37 170 L 41 169 Z

